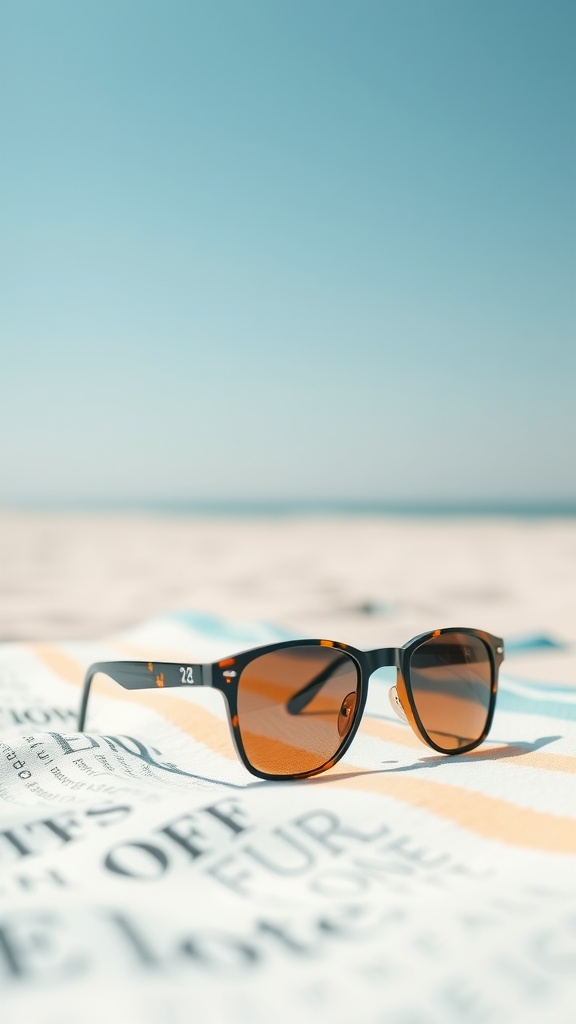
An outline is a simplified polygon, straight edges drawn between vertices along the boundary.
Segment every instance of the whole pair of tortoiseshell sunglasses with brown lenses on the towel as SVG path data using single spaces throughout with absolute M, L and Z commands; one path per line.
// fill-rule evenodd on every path
M 464 754 L 488 735 L 503 657 L 503 640 L 490 633 L 445 629 L 368 651 L 289 640 L 212 665 L 97 662 L 86 673 L 78 728 L 99 672 L 128 690 L 211 686 L 224 696 L 236 751 L 252 774 L 306 778 L 340 760 L 358 731 L 370 676 L 394 667 L 397 715 L 435 751 Z

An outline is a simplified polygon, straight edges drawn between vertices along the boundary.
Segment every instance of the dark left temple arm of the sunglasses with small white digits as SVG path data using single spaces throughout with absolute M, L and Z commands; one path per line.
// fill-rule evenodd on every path
M 172 686 L 211 686 L 211 665 L 175 665 L 168 662 L 96 662 L 84 677 L 78 713 L 78 731 L 86 722 L 86 710 L 94 676 L 102 673 L 126 690 L 154 690 Z

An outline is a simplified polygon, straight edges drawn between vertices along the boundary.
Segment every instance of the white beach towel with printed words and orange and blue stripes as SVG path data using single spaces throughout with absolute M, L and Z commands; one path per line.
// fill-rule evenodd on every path
M 0 647 L 3 1020 L 574 1024 L 576 688 L 504 671 L 489 740 L 445 758 L 382 670 L 301 782 L 244 769 L 211 690 L 101 680 L 76 731 L 91 662 L 282 636 L 182 613 Z

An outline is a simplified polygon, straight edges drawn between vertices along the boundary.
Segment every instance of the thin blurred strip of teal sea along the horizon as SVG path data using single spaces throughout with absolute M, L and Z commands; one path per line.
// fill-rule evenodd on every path
M 68 513 L 136 513 L 173 516 L 408 516 L 510 517 L 522 519 L 576 517 L 576 500 L 566 501 L 338 501 L 314 499 L 221 499 L 118 500 L 118 501 L 27 501 L 2 502 L 0 511 Z

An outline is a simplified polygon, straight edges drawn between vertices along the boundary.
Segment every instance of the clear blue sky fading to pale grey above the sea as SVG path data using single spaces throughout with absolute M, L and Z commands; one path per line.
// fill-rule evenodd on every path
M 573 0 L 0 37 L 0 502 L 576 500 Z

